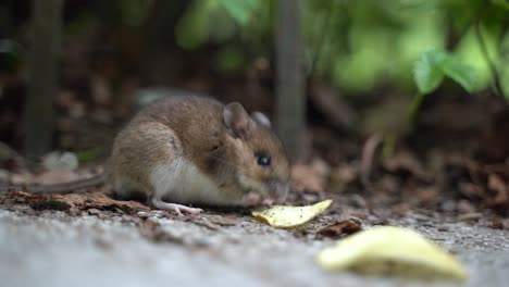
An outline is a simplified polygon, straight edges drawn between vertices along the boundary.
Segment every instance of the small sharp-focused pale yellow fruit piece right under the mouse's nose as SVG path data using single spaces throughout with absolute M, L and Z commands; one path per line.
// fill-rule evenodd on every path
M 266 210 L 253 211 L 252 215 L 274 227 L 289 228 L 305 224 L 324 212 L 332 199 L 307 207 L 274 205 Z

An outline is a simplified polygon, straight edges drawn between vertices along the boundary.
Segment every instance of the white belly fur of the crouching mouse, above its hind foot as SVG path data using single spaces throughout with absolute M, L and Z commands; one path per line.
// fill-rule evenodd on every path
M 156 166 L 150 173 L 154 196 L 174 203 L 224 203 L 216 184 L 184 158 Z

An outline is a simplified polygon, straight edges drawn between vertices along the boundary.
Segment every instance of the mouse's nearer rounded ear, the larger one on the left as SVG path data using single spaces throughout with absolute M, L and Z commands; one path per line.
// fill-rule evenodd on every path
M 246 139 L 251 135 L 251 118 L 238 102 L 231 102 L 223 108 L 224 125 L 234 138 Z

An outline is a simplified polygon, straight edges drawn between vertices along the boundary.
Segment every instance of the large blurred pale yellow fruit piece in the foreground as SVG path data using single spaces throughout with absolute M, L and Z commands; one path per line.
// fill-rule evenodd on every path
M 414 230 L 393 226 L 356 233 L 319 252 L 316 261 L 326 270 L 368 275 L 424 280 L 468 278 L 464 267 L 446 250 Z

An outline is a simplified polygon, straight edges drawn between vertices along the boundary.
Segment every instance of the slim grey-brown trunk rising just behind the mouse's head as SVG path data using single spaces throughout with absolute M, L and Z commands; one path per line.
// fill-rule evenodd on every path
M 301 159 L 306 97 L 300 0 L 280 0 L 276 26 L 276 125 L 288 155 Z

